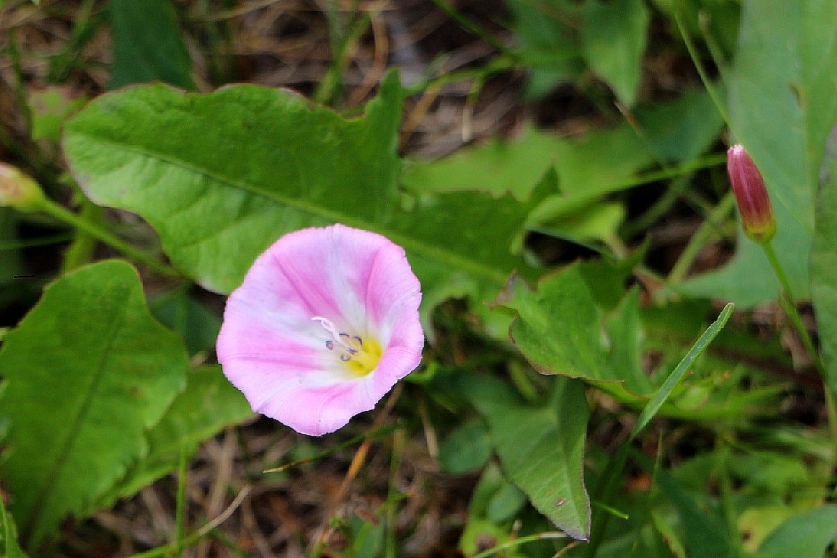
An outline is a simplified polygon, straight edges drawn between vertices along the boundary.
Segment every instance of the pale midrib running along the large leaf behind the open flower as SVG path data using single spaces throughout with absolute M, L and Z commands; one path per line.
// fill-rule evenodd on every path
M 457 269 L 465 269 L 466 271 L 470 272 L 470 274 L 482 277 L 483 279 L 488 279 L 490 280 L 490 282 L 500 286 L 506 283 L 506 279 L 508 279 L 508 275 L 511 273 L 511 269 L 498 269 L 480 264 L 479 262 L 473 259 L 467 259 L 463 256 L 460 256 L 457 253 L 449 252 L 447 250 L 444 250 L 443 248 L 433 246 L 429 243 L 421 242 L 414 237 L 406 236 L 392 229 L 382 227 L 378 223 L 367 222 L 362 219 L 357 219 L 350 214 L 337 212 L 327 207 L 308 203 L 301 198 L 285 197 L 278 192 L 259 190 L 247 182 L 234 181 L 229 177 L 223 177 L 204 168 L 196 166 L 193 163 L 182 161 L 181 159 L 177 159 L 171 156 L 166 156 L 156 151 L 148 150 L 144 147 L 131 146 L 126 143 L 121 143 L 117 141 L 103 140 L 100 137 L 90 136 L 83 132 L 75 132 L 75 136 L 85 137 L 93 143 L 110 146 L 111 148 L 117 151 L 121 149 L 123 151 L 128 151 L 139 154 L 141 156 L 146 156 L 153 160 L 162 161 L 162 163 L 177 166 L 183 170 L 191 171 L 203 177 L 207 177 L 215 182 L 220 183 L 225 187 L 238 188 L 240 190 L 244 190 L 244 192 L 249 192 L 256 196 L 267 198 L 272 202 L 278 202 L 281 204 L 285 204 L 289 207 L 293 207 L 294 209 L 300 212 L 306 212 L 317 217 L 326 218 L 328 220 L 334 221 L 335 223 L 343 223 L 352 227 L 363 228 L 375 233 L 383 234 L 383 236 L 386 236 L 394 243 L 397 243 L 401 247 L 405 248 L 408 252 L 419 253 L 424 257 L 436 259 L 440 262 L 443 262 L 444 264 L 448 264 L 449 266 Z M 131 207 L 123 206 L 123 208 L 131 210 Z

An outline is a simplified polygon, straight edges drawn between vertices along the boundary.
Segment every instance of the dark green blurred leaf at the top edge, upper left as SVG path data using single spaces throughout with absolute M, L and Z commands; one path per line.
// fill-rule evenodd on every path
M 157 80 L 195 89 L 192 59 L 171 0 L 110 0 L 108 14 L 114 59 L 110 89 Z

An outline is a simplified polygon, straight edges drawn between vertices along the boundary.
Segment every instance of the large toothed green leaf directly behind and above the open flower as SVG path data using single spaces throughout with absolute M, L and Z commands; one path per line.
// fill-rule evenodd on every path
M 238 286 L 283 233 L 340 222 L 403 246 L 425 288 L 496 292 L 525 267 L 510 250 L 542 193 L 526 203 L 477 192 L 400 199 L 401 96 L 388 74 L 365 116 L 345 120 L 287 90 L 139 86 L 90 103 L 66 125 L 64 149 L 93 201 L 140 213 L 172 262 L 209 289 Z

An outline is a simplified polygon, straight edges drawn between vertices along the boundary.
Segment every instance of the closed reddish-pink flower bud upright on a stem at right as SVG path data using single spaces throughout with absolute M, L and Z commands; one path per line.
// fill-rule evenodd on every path
M 776 234 L 773 206 L 762 173 L 743 146 L 732 146 L 727 151 L 727 173 L 741 212 L 744 233 L 757 243 L 768 242 Z

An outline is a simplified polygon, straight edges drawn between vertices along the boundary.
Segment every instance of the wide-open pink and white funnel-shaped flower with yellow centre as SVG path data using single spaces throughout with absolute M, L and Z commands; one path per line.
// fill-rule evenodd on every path
M 421 361 L 421 290 L 402 248 L 344 225 L 286 234 L 227 300 L 218 361 L 255 412 L 319 436 Z

